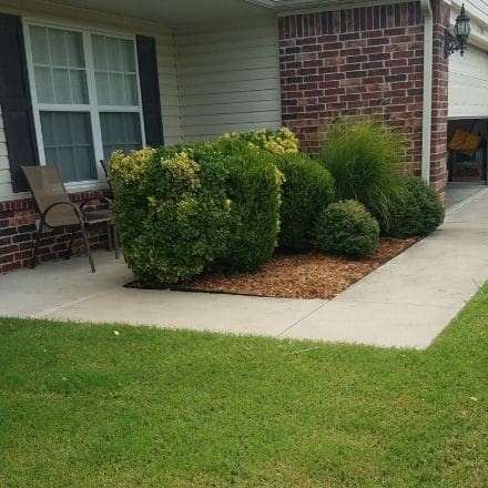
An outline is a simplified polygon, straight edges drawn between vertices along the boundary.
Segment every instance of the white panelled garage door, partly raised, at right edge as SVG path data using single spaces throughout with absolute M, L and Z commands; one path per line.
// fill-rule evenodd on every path
M 488 53 L 469 45 L 449 58 L 449 119 L 488 118 Z

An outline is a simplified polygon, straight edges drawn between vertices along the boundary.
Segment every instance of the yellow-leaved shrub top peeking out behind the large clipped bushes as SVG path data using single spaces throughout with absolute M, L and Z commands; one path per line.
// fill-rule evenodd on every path
M 256 146 L 273 154 L 298 152 L 298 141 L 295 134 L 287 128 L 277 131 L 261 129 L 248 132 L 228 132 L 221 136 L 221 141 L 245 142 L 251 148 Z

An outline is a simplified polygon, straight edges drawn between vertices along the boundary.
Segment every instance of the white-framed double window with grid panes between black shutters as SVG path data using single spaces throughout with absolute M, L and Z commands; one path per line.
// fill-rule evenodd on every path
M 96 181 L 96 161 L 144 144 L 134 39 L 27 24 L 41 163 Z

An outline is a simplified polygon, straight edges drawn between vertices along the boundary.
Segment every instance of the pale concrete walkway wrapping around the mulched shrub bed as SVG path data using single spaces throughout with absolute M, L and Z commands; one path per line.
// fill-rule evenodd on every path
M 329 302 L 128 289 L 122 260 L 95 258 L 96 274 L 73 258 L 0 276 L 0 315 L 424 348 L 488 279 L 488 190 Z

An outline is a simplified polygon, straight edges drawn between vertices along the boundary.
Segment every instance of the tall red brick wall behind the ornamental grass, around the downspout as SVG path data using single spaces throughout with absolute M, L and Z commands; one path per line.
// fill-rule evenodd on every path
M 433 181 L 440 189 L 447 63 L 440 47 L 446 9 L 437 3 Z M 407 135 L 407 163 L 420 174 L 424 18 L 418 1 L 284 17 L 278 38 L 283 122 L 303 150 L 317 153 L 327 122 L 337 116 L 377 114 Z

